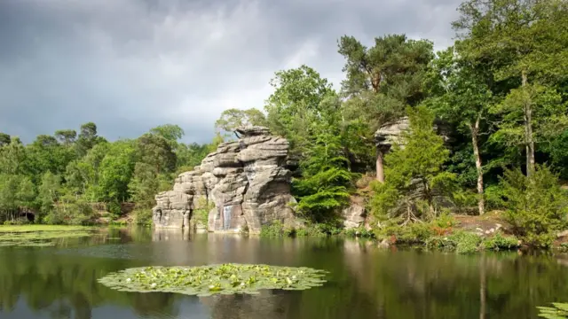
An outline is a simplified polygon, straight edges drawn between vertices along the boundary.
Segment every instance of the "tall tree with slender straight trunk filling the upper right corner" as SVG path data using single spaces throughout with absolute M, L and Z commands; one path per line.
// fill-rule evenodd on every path
M 498 81 L 508 82 L 509 105 L 523 111 L 526 174 L 534 170 L 531 81 L 544 84 L 566 77 L 568 4 L 557 0 L 469 0 L 461 4 L 454 29 L 461 52 L 492 66 Z M 564 70 L 564 71 L 563 71 Z

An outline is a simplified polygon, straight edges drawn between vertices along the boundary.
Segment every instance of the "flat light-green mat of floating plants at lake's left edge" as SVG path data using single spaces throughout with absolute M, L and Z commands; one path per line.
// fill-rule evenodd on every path
M 93 228 L 62 225 L 0 226 L 0 246 L 49 246 L 55 239 L 88 237 Z

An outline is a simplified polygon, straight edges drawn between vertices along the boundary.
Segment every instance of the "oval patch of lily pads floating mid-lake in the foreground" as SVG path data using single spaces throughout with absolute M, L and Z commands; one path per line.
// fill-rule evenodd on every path
M 262 289 L 305 290 L 326 282 L 326 271 L 268 265 L 128 268 L 99 279 L 121 292 L 177 292 L 186 295 L 256 294 Z

